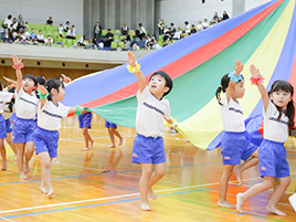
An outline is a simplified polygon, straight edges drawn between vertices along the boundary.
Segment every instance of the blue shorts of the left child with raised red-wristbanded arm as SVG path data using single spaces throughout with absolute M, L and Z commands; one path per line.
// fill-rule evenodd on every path
M 23 119 L 17 117 L 12 127 L 12 141 L 14 144 L 33 141 L 32 135 L 35 128 L 36 121 L 34 119 Z

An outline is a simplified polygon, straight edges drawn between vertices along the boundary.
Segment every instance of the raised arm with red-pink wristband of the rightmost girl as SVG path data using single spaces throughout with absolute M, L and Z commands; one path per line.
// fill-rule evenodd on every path
M 262 84 L 262 81 L 264 78 L 262 77 L 262 75 L 260 74 L 260 70 L 256 68 L 255 65 L 250 66 L 250 72 L 251 72 L 251 75 L 253 77 L 252 82 L 254 82 L 257 85 L 257 88 L 258 88 L 261 96 L 262 96 L 264 109 L 266 110 L 268 103 L 269 103 L 269 96 L 267 94 L 266 88 Z

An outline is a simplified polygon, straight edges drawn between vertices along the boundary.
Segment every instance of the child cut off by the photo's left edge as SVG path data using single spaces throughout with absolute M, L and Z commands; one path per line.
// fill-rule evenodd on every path
M 10 102 L 13 94 L 3 92 L 3 85 L 0 82 L 0 152 L 2 157 L 2 170 L 7 170 L 7 150 L 4 147 L 4 138 L 7 137 L 7 124 L 6 119 L 2 116 L 2 113 L 4 112 L 4 104 Z

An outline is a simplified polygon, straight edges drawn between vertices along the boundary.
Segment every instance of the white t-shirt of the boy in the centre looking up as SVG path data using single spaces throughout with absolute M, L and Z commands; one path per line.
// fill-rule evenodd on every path
M 170 119 L 170 104 L 166 98 L 160 101 L 149 91 L 149 87 L 137 92 L 138 108 L 136 115 L 137 133 L 146 137 L 163 135 L 163 117 Z

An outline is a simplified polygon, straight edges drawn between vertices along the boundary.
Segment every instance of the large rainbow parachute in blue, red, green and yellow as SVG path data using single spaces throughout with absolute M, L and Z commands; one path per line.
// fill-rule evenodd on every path
M 223 127 L 214 93 L 236 60 L 245 64 L 246 92 L 240 103 L 246 129 L 253 142 L 260 144 L 263 109 L 260 93 L 249 81 L 250 65 L 261 70 L 267 89 L 275 80 L 296 86 L 295 10 L 295 0 L 271 1 L 138 60 L 146 80 L 158 70 L 173 80 L 167 97 L 171 115 L 194 146 L 213 149 L 220 145 Z M 110 121 L 135 128 L 137 89 L 137 78 L 121 65 L 71 83 L 64 104 L 83 105 Z

